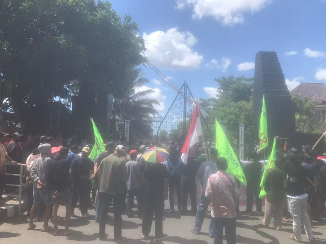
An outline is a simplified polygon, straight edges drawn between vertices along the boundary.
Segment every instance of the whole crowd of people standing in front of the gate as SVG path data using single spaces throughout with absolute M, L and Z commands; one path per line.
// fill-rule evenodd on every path
M 8 140 L 10 138 L 10 140 Z M 180 160 L 180 149 L 170 144 L 166 149 L 169 157 L 160 163 L 146 162 L 143 154 L 148 146 L 141 145 L 138 150 L 127 150 L 126 145 L 108 142 L 105 151 L 93 161 L 89 158 L 92 145 L 83 145 L 72 137 L 53 139 L 39 137 L 33 140 L 31 152 L 24 162 L 26 144 L 23 135 L 13 132 L 9 136 L 0 132 L 0 172 L 6 166 L 26 164 L 26 185 L 28 186 L 28 230 L 34 230 L 34 221 L 43 219 L 43 229 L 53 229 L 56 236 L 60 231 L 70 235 L 71 216 L 79 202 L 79 216 L 88 216 L 93 201 L 96 210 L 96 222 L 99 223 L 99 238 L 107 238 L 106 221 L 109 212 L 113 212 L 114 240 L 122 237 L 122 214 L 128 218 L 137 215 L 142 219 L 142 237 L 148 238 L 153 218 L 155 218 L 155 237 L 164 239 L 163 233 L 164 203 L 169 198 L 170 212 L 176 206 L 181 215 L 195 216 L 193 234 L 200 234 L 201 227 L 211 204 L 211 222 L 209 236 L 214 244 L 221 244 L 223 230 L 228 244 L 236 243 L 236 219 L 239 212 L 240 182 L 227 173 L 228 163 L 218 157 L 214 148 L 203 146 L 190 148 L 186 163 Z M 59 150 L 53 152 L 53 148 Z M 289 238 L 301 241 L 301 222 L 306 235 L 314 240 L 311 220 L 322 220 L 326 196 L 326 164 L 315 156 L 310 146 L 304 146 L 303 153 L 292 148 L 286 152 L 280 149 L 276 153 L 275 167 L 267 170 L 264 178 L 265 213 L 261 227 L 269 228 L 274 216 L 274 228 L 282 230 L 282 221 L 289 221 L 288 204 L 293 219 L 293 235 Z M 261 173 L 264 165 L 257 160 L 257 152 L 251 153 L 251 160 L 244 163 L 243 171 L 247 180 L 247 206 L 243 214 L 252 214 L 253 200 L 256 198 L 256 211 L 262 214 L 259 198 Z M 13 168 L 14 169 L 14 168 Z M 5 186 L 4 174 L 0 177 L 1 191 Z M 13 179 L 7 179 L 13 180 Z M 201 186 L 200 202 L 197 205 L 197 184 Z M 92 192 L 92 194 L 91 194 Z M 187 203 L 190 197 L 191 207 L 188 213 Z M 137 212 L 133 210 L 137 200 Z M 65 229 L 59 230 L 57 212 L 60 205 L 66 207 Z M 198 206 L 198 208 L 197 208 Z M 155 217 L 153 217 L 155 216 Z M 53 227 L 49 225 L 52 221 Z

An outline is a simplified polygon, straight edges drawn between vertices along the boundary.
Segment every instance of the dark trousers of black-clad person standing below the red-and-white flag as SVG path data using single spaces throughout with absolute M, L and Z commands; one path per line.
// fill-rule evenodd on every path
M 181 194 L 182 194 L 182 212 L 187 211 L 188 194 L 191 201 L 191 212 L 196 214 L 197 212 L 197 185 L 196 179 L 181 179 Z

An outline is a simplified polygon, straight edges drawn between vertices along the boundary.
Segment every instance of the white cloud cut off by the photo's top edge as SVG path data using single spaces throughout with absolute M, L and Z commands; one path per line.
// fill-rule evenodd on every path
M 212 16 L 225 25 L 244 23 L 245 12 L 257 12 L 272 0 L 176 0 L 177 9 L 193 8 L 193 19 Z

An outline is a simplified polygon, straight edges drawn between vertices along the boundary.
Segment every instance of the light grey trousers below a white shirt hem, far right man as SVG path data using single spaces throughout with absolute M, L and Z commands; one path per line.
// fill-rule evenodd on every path
M 298 241 L 301 241 L 301 221 L 304 223 L 304 230 L 308 239 L 314 239 L 307 213 L 307 201 L 307 197 L 303 199 L 289 198 L 290 212 L 293 218 L 293 234 Z

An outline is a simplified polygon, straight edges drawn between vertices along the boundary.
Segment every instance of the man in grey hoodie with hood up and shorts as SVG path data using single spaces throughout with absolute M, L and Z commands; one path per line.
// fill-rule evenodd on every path
M 31 178 L 34 182 L 34 203 L 31 208 L 27 230 L 35 229 L 36 225 L 33 223 L 33 220 L 36 217 L 37 206 L 39 203 L 43 202 L 45 204 L 45 213 L 43 230 L 41 231 L 48 231 L 51 229 L 48 222 L 52 209 L 52 192 L 48 185 L 49 164 L 51 163 L 51 145 L 39 145 L 38 150 L 41 153 L 41 157 L 35 160 L 31 169 Z

